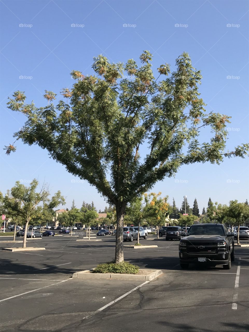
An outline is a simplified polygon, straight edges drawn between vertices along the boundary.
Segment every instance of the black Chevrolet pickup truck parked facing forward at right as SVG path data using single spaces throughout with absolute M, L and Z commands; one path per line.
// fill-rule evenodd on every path
M 189 263 L 208 263 L 231 269 L 231 261 L 234 261 L 233 235 L 223 224 L 192 225 L 179 243 L 181 268 L 188 268 Z

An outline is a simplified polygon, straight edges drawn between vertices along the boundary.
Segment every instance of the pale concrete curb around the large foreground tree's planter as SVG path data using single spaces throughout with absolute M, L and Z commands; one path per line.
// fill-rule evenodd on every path
M 72 278 L 82 278 L 82 279 L 110 279 L 110 280 L 153 280 L 160 276 L 163 272 L 162 270 L 147 270 L 140 269 L 140 271 L 148 271 L 147 275 L 136 275 L 136 274 L 121 274 L 121 273 L 88 273 L 91 270 L 84 270 L 80 272 L 75 272 Z

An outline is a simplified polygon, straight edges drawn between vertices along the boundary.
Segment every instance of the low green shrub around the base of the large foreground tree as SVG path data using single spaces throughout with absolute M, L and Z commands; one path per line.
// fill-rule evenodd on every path
M 139 267 L 137 265 L 130 264 L 128 262 L 113 263 L 108 262 L 97 265 L 96 269 L 91 273 L 126 273 L 137 274 Z

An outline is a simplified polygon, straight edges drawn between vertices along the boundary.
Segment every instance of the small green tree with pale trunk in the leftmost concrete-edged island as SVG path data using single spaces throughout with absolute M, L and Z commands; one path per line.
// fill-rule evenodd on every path
M 43 183 L 40 190 L 38 189 L 39 182 L 34 179 L 29 187 L 17 181 L 15 186 L 11 188 L 11 197 L 13 200 L 5 196 L 5 204 L 17 215 L 25 220 L 25 231 L 23 238 L 23 248 L 26 248 L 27 231 L 31 218 L 35 215 L 36 207 L 41 202 L 48 200 L 49 192 L 48 186 Z

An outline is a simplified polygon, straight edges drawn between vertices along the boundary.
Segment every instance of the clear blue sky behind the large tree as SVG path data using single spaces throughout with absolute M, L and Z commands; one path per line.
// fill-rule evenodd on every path
M 207 111 L 232 116 L 228 149 L 249 142 L 248 1 L 3 0 L 0 5 L 1 149 L 13 142 L 13 132 L 25 121 L 6 107 L 14 91 L 25 91 L 28 102 L 44 106 L 45 89 L 58 94 L 70 88 L 71 70 L 92 74 L 93 56 L 102 53 L 110 61 L 126 62 L 139 60 L 144 49 L 154 54 L 154 69 L 167 62 L 173 70 L 176 57 L 189 52 L 202 71 L 200 92 Z M 45 179 L 51 193 L 61 190 L 67 197 L 66 207 L 75 199 L 77 207 L 93 200 L 98 210 L 104 209 L 106 203 L 94 187 L 77 182 L 38 146 L 19 141 L 15 153 L 0 153 L 3 193 L 17 180 L 28 184 L 33 178 Z M 201 211 L 209 197 L 222 204 L 244 202 L 249 199 L 248 160 L 184 166 L 175 179 L 166 178 L 153 191 L 169 195 L 170 203 L 174 197 L 179 208 L 183 195 L 191 207 L 196 197 Z

